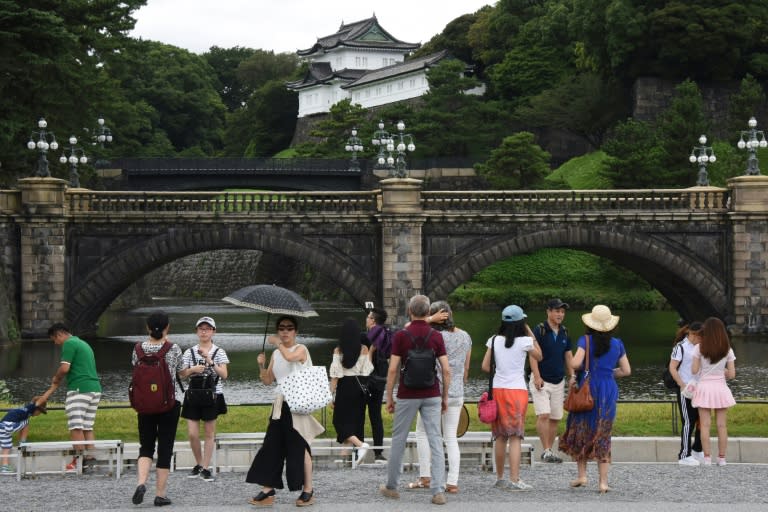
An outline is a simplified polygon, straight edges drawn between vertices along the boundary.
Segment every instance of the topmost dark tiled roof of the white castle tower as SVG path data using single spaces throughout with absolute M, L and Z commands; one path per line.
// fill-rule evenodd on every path
M 306 50 L 296 52 L 300 57 L 307 57 L 319 52 L 327 52 L 338 47 L 391 49 L 412 51 L 419 48 L 419 43 L 406 43 L 392 37 L 379 25 L 376 16 L 362 21 L 345 24 L 339 31 L 329 36 L 318 38 L 317 42 Z

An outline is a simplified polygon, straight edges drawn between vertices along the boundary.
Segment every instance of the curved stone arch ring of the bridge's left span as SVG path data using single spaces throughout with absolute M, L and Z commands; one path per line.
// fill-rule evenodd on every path
M 67 318 L 76 332 L 91 332 L 109 304 L 139 277 L 178 258 L 216 249 L 261 250 L 296 259 L 329 276 L 360 304 L 376 296 L 376 279 L 371 279 L 370 271 L 328 241 L 263 226 L 180 227 L 115 252 L 85 276 L 75 276 L 69 269 Z

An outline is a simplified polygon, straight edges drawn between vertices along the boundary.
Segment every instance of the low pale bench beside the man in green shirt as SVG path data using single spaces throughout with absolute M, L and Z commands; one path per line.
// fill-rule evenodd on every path
M 86 445 L 93 445 L 93 448 L 75 449 L 76 446 Z M 119 439 L 21 443 L 16 478 L 20 480 L 22 476 L 27 475 L 35 478 L 44 473 L 67 473 L 67 463 L 76 455 L 80 455 L 77 457 L 75 471 L 78 475 L 83 473 L 83 457 L 93 455 L 97 459 L 106 458 L 109 475 L 114 474 L 115 478 L 120 478 L 123 466 L 123 442 Z

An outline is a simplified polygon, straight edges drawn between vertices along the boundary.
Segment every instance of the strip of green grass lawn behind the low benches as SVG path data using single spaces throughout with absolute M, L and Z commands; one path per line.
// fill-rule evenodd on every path
M 12 407 L 11 404 L 0 403 L 0 408 Z M 53 408 L 53 410 L 51 410 Z M 469 430 L 487 432 L 487 425 L 477 419 L 475 404 L 467 404 L 469 409 Z M 229 412 L 220 416 L 217 423 L 218 432 L 263 432 L 267 427 L 269 406 L 266 405 L 234 405 Z M 326 425 L 327 431 L 322 437 L 335 438 L 336 432 L 331 422 L 332 410 L 315 413 L 317 419 Z M 385 436 L 389 436 L 392 428 L 392 416 L 384 411 Z M 536 417 L 533 406 L 528 407 L 526 432 L 529 436 L 536 435 Z M 714 423 L 714 422 L 713 422 Z M 737 404 L 728 411 L 729 437 L 768 437 L 765 425 L 768 424 L 768 404 Z M 565 423 L 561 423 L 561 432 Z M 414 427 L 415 428 L 415 427 Z M 613 435 L 617 437 L 669 437 L 672 433 L 672 406 L 670 402 L 659 403 L 620 403 Z M 713 425 L 713 435 L 716 435 Z M 126 404 L 102 403 L 96 417 L 96 437 L 100 439 L 122 439 L 125 442 L 138 441 L 136 413 Z M 370 424 L 366 421 L 366 437 L 370 438 Z M 34 441 L 64 441 L 67 440 L 66 418 L 61 404 L 49 404 L 49 412 L 35 416 L 30 421 L 28 440 Z M 187 440 L 186 420 L 179 421 L 177 440 Z

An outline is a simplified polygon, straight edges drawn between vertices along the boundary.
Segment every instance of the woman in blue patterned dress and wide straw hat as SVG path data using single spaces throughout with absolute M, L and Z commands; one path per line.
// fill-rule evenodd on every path
M 619 324 L 618 316 L 612 315 L 607 306 L 597 305 L 581 319 L 586 325 L 586 334 L 579 338 L 571 366 L 574 370 L 583 370 L 589 338 L 589 389 L 595 407 L 591 411 L 568 414 L 559 448 L 576 461 L 578 478 L 571 481 L 571 487 L 587 485 L 587 461 L 597 460 L 598 491 L 602 494 L 610 490 L 611 431 L 619 400 L 616 377 L 629 376 L 631 368 L 624 344 L 611 335 Z

